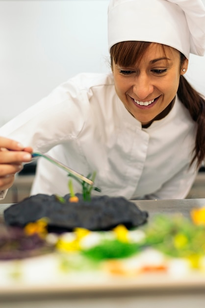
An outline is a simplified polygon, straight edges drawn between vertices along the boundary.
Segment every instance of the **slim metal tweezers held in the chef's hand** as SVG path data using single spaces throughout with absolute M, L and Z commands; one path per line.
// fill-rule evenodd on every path
M 78 179 L 86 182 L 89 185 L 93 185 L 93 181 L 91 181 L 90 179 L 84 177 L 83 175 L 79 174 L 77 171 L 67 167 L 66 165 L 64 165 L 62 162 L 59 162 L 58 160 L 52 158 L 50 155 L 48 154 L 43 154 L 40 152 L 34 152 L 31 154 L 33 158 L 37 158 L 37 157 L 44 157 L 46 159 L 48 159 L 50 162 L 52 162 L 54 165 L 58 166 L 59 168 L 65 170 L 66 172 L 72 174 L 73 176 L 77 177 Z

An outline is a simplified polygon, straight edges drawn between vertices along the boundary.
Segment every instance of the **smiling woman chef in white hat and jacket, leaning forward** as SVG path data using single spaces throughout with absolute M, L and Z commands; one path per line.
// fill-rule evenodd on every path
M 0 135 L 85 176 L 96 171 L 102 194 L 184 198 L 205 156 L 205 100 L 184 77 L 189 54 L 204 55 L 205 7 L 201 0 L 111 0 L 108 45 L 110 73 L 68 80 Z M 6 163 L 1 158 L 3 175 L 25 161 L 23 148 L 18 159 L 14 150 Z M 31 193 L 64 195 L 67 181 L 42 158 Z M 11 183 L 0 183 L 3 196 Z

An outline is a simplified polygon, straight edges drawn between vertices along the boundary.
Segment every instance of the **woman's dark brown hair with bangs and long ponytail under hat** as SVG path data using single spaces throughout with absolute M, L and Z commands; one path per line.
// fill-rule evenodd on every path
M 123 67 L 134 65 L 136 60 L 140 62 L 145 51 L 150 45 L 150 42 L 137 41 L 120 42 L 115 44 L 110 50 L 111 68 L 113 68 L 113 61 Z M 164 45 L 162 46 L 164 48 L 164 53 L 166 53 L 167 48 L 169 47 Z M 185 60 L 185 56 L 180 53 L 181 67 Z M 193 149 L 191 164 L 196 159 L 197 167 L 200 167 L 205 157 L 205 99 L 188 83 L 182 75 L 180 75 L 177 94 L 181 103 L 188 109 L 193 121 L 197 123 L 195 147 Z

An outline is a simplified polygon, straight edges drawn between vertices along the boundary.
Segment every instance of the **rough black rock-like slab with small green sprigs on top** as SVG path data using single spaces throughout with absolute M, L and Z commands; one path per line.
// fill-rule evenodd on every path
M 55 195 L 37 194 L 6 209 L 4 219 L 7 225 L 24 227 L 28 222 L 47 217 L 52 231 L 72 231 L 76 227 L 110 230 L 118 224 L 130 229 L 147 221 L 148 213 L 124 197 L 93 196 L 89 202 L 83 201 L 81 194 L 77 197 L 77 203 L 69 202 L 67 194 L 63 203 Z

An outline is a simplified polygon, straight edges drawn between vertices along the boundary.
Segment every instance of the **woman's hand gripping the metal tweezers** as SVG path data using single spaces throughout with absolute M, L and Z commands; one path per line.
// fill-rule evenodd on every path
M 0 190 L 13 185 L 15 173 L 23 169 L 23 163 L 31 161 L 32 148 L 25 148 L 17 141 L 0 137 Z

